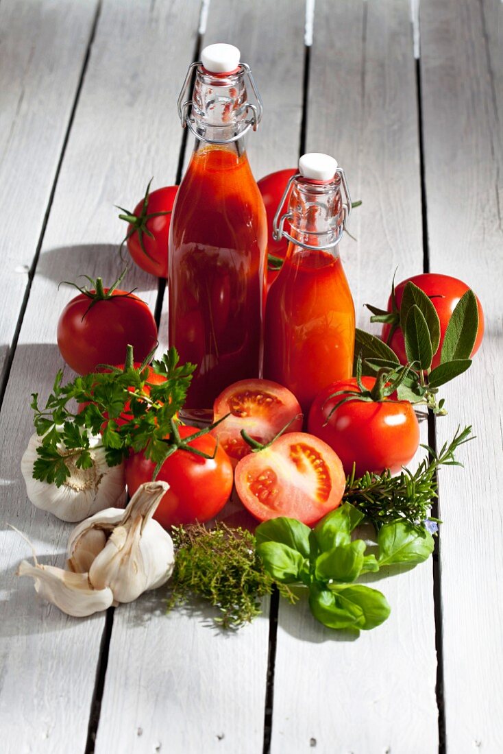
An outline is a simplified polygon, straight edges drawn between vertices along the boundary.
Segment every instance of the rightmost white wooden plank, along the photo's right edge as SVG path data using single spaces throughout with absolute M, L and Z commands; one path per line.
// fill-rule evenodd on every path
M 469 372 L 446 386 L 449 415 L 437 421 L 438 444 L 458 425 L 473 424 L 477 435 L 462 454 L 465 470 L 444 471 L 440 485 L 443 687 L 452 754 L 503 749 L 503 68 L 495 44 L 499 38 L 501 47 L 501 29 L 499 3 L 422 0 L 430 266 L 471 285 L 486 314 L 481 351 Z

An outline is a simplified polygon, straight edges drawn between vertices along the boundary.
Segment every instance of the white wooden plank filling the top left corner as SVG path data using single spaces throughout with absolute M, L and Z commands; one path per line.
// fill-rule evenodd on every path
M 97 0 L 2 0 L 0 381 L 72 112 Z

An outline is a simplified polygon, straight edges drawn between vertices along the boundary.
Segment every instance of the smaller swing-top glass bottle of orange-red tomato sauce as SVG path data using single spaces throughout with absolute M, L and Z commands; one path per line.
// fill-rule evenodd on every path
M 280 219 L 292 184 L 288 213 Z M 354 303 L 339 258 L 350 211 L 336 160 L 319 153 L 300 158 L 275 216 L 275 238 L 283 235 L 290 244 L 265 307 L 264 376 L 290 388 L 305 415 L 322 388 L 353 369 Z

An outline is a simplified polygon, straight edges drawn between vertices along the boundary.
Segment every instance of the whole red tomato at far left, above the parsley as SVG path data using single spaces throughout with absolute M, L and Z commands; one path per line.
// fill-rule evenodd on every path
M 93 281 L 94 282 L 94 281 Z M 157 326 L 148 305 L 127 291 L 96 287 L 75 296 L 57 323 L 57 345 L 68 366 L 86 375 L 98 364 L 124 362 L 127 345 L 143 361 L 157 342 Z

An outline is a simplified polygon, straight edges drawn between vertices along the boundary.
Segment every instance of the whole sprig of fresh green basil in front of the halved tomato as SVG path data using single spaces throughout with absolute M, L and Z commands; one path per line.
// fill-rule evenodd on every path
M 331 511 L 313 530 L 289 518 L 266 521 L 256 529 L 256 552 L 265 572 L 278 584 L 304 584 L 317 621 L 333 629 L 369 630 L 388 618 L 390 606 L 376 589 L 356 584 L 381 566 L 416 563 L 433 550 L 425 529 L 405 521 L 385 524 L 379 531 L 379 558 L 365 554 L 367 543 L 352 539 L 363 513 L 345 503 Z

